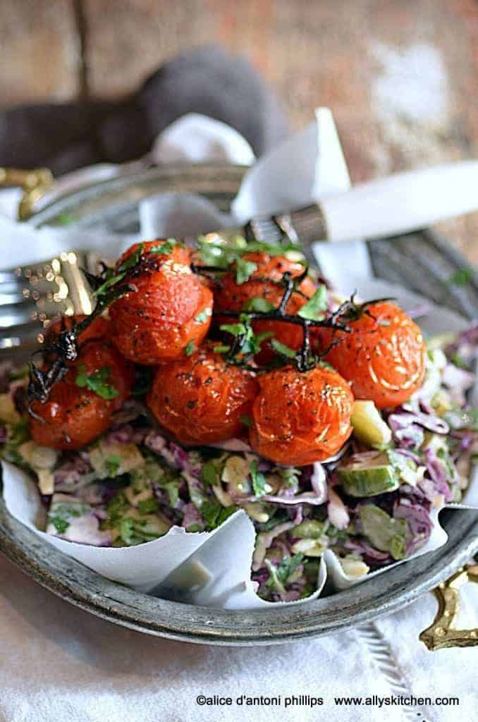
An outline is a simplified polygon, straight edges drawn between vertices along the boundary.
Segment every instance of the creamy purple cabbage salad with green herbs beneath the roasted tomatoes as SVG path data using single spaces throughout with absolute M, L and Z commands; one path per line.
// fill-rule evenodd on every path
M 322 464 L 275 466 L 242 440 L 184 448 L 141 400 L 127 401 L 113 426 L 81 451 L 30 440 L 25 370 L 0 367 L 0 456 L 38 481 L 46 531 L 95 546 L 125 547 L 166 534 L 211 531 L 238 509 L 256 528 L 252 578 L 258 595 L 310 595 L 325 549 L 359 578 L 425 544 L 430 512 L 459 502 L 478 454 L 474 384 L 478 326 L 430 339 L 427 373 L 403 406 L 378 412 L 356 402 L 354 434 Z

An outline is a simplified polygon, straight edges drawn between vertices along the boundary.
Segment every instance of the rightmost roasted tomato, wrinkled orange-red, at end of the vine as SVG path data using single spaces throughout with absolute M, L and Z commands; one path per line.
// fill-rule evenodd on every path
M 318 350 L 336 342 L 326 360 L 352 383 L 356 399 L 370 399 L 378 409 L 403 404 L 425 375 L 425 342 L 417 324 L 383 301 L 347 324 L 349 334 L 320 329 Z

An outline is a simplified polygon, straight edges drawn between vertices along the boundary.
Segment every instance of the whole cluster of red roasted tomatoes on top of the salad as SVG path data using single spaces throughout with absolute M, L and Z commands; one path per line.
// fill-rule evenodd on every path
M 274 354 L 271 339 L 297 351 L 304 330 L 255 318 L 253 331 L 265 339 L 256 354 L 261 365 L 241 366 L 223 355 L 214 332 L 230 321 L 228 313 L 251 308 L 253 300 L 278 308 L 284 277 L 297 279 L 283 309 L 295 316 L 316 292 L 303 265 L 258 251 L 241 259 L 250 264 L 246 279 L 238 280 L 233 262 L 212 280 L 194 272 L 194 251 L 155 240 L 132 246 L 116 269 L 134 254 L 139 263 L 131 290 L 79 337 L 77 358 L 48 399 L 30 404 L 32 438 L 42 445 L 77 449 L 105 432 L 131 393 L 135 364 L 155 368 L 147 405 L 179 442 L 214 444 L 248 435 L 257 453 L 294 466 L 339 451 L 352 432 L 354 398 L 394 407 L 422 383 L 420 329 L 392 303 L 368 305 L 366 313 L 349 318 L 347 329 L 315 326 L 312 343 L 327 363 L 305 370 L 293 362 L 264 370 Z

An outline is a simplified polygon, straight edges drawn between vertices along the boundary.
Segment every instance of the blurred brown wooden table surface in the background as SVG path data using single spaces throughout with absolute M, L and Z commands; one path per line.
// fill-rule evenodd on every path
M 222 43 L 296 127 L 329 105 L 355 182 L 478 156 L 476 0 L 2 0 L 0 43 L 4 105 L 118 97 Z M 441 230 L 478 261 L 478 213 Z

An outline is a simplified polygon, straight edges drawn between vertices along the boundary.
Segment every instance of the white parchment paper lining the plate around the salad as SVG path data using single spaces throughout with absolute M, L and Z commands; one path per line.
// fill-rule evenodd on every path
M 191 132 L 191 122 L 185 124 Z M 199 131 L 204 130 L 201 121 Z M 181 126 L 180 126 L 181 131 Z M 214 132 L 217 129 L 214 129 Z M 181 144 L 178 129 L 170 135 L 175 147 Z M 237 139 L 236 139 L 237 140 Z M 157 152 L 166 152 L 168 145 L 157 143 Z M 245 152 L 245 149 L 242 149 Z M 207 160 L 207 159 L 204 159 Z M 248 159 L 252 160 L 251 158 Z M 110 169 L 102 172 L 110 173 Z M 305 131 L 286 141 L 269 156 L 257 162 L 245 175 L 243 185 L 233 203 L 233 214 L 217 212 L 201 196 L 178 196 L 162 193 L 142 201 L 140 217 L 141 238 L 162 235 L 196 235 L 199 232 L 245 222 L 255 214 L 276 212 L 310 203 L 328 192 L 347 190 L 349 175 L 342 149 L 336 134 L 334 120 L 327 109 L 319 109 L 316 121 Z M 9 266 L 27 264 L 71 248 L 95 248 L 105 258 L 116 259 L 136 238 L 87 235 L 85 232 L 64 228 L 45 227 L 34 230 L 18 225 L 6 217 L 0 218 L 2 250 Z M 347 244 L 316 246 L 323 270 L 337 290 L 349 294 L 356 288 L 363 298 L 393 295 L 405 309 L 427 303 L 422 297 L 400 287 L 371 278 L 370 260 L 365 243 L 360 240 Z M 352 259 L 352 260 L 351 260 Z M 325 267 L 324 267 L 325 266 Z M 427 317 L 420 322 L 430 334 L 438 331 L 458 331 L 466 321 L 451 311 L 430 307 Z M 251 559 L 255 531 L 243 511 L 231 516 L 211 533 L 187 533 L 174 527 L 155 541 L 124 549 L 87 547 L 58 539 L 40 530 L 42 513 L 35 484 L 24 472 L 2 462 L 6 507 L 12 516 L 39 534 L 48 544 L 82 562 L 97 573 L 129 584 L 141 591 L 152 591 L 161 585 L 174 586 L 187 591 L 197 604 L 222 606 L 227 609 L 253 609 L 274 606 L 258 598 L 251 582 Z M 478 508 L 478 482 L 466 495 L 464 505 Z M 446 532 L 440 528 L 439 510 L 436 510 L 433 533 L 419 554 L 437 549 L 446 542 Z M 404 560 L 405 563 L 409 560 Z M 326 552 L 321 562 L 318 588 L 309 599 L 320 595 L 326 573 L 336 586 L 349 586 L 356 580 L 344 575 L 333 552 Z M 386 573 L 379 570 L 374 574 Z M 370 576 L 370 575 L 369 575 Z M 303 601 L 288 604 L 302 604 Z M 278 603 L 286 604 L 286 603 Z

